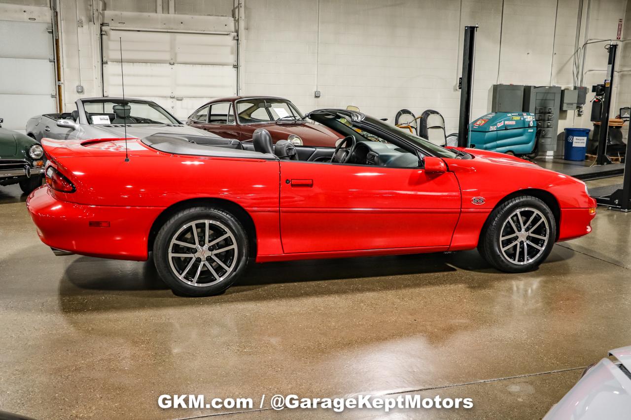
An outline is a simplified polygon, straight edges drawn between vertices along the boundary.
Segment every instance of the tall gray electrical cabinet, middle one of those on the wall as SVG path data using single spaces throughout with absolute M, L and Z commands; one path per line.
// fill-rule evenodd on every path
M 558 112 L 561 109 L 560 86 L 524 86 L 524 112 L 537 120 L 539 150 L 557 150 Z

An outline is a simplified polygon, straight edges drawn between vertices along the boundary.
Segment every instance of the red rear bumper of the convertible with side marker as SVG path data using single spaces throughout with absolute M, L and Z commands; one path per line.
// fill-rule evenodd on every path
M 60 201 L 47 187 L 33 191 L 28 212 L 42 242 L 57 250 L 121 260 L 147 259 L 147 242 L 160 207 L 86 206 Z M 110 226 L 91 227 L 90 221 Z

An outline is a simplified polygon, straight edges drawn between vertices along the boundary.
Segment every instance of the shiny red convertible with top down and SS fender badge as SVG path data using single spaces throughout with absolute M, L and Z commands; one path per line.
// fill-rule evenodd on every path
M 220 293 L 249 261 L 478 248 L 524 272 L 591 231 L 575 178 L 476 149 L 435 146 L 348 110 L 309 114 L 335 148 L 177 134 L 44 139 L 47 186 L 27 201 L 57 254 L 153 259 L 184 295 Z M 129 160 L 126 160 L 126 151 Z

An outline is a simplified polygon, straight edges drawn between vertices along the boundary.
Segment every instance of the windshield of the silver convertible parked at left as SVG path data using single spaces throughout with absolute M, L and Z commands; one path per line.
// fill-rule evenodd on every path
M 153 102 L 138 100 L 83 101 L 88 124 L 180 124 Z

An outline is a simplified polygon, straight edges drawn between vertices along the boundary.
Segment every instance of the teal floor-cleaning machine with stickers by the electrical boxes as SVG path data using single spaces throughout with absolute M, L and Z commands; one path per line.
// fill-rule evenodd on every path
M 491 112 L 469 124 L 469 147 L 533 155 L 537 134 L 537 120 L 531 112 Z

